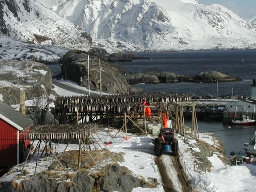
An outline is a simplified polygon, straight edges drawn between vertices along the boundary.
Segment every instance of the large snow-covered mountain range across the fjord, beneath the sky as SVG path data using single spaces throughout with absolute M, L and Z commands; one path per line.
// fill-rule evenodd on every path
M 224 6 L 198 0 L 38 0 L 96 41 L 126 50 L 255 48 L 256 32 Z

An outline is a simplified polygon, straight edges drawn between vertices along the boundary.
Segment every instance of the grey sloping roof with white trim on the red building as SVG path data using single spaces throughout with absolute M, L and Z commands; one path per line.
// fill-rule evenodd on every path
M 0 100 L 0 118 L 8 122 L 18 130 L 24 130 L 33 124 L 33 121 L 20 112 L 14 110 L 9 105 Z

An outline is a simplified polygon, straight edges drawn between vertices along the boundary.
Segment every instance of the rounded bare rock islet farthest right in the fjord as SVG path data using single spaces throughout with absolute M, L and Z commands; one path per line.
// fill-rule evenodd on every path
M 222 74 L 217 71 L 200 72 L 198 75 L 194 77 L 194 82 L 214 83 L 217 80 L 218 82 L 242 81 L 242 79 L 238 77 L 231 77 L 229 75 Z

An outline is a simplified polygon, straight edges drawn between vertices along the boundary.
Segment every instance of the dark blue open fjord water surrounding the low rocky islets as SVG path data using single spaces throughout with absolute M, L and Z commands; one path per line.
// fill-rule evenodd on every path
M 218 82 L 218 96 L 250 96 L 250 85 L 256 78 L 256 50 L 222 50 L 222 51 L 183 51 L 138 53 L 149 60 L 134 60 L 120 63 L 130 73 L 157 69 L 174 72 L 178 75 L 196 76 L 199 72 L 214 70 L 234 77 L 242 78 L 240 82 Z M 217 96 L 216 83 L 179 82 L 168 84 L 138 84 L 146 92 L 172 92 L 206 96 Z

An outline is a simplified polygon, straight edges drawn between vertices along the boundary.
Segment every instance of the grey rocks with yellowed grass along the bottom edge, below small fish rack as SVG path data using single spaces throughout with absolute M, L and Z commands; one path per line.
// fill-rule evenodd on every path
M 30 177 L 21 183 L 0 182 L 1 192 L 100 192 L 120 191 L 130 192 L 133 188 L 156 187 L 156 180 L 146 182 L 142 178 L 132 176 L 132 172 L 117 163 L 107 165 L 102 171 L 88 174 L 78 171 L 75 174 L 67 174 L 69 181 L 60 180 L 54 173 L 46 171 Z

